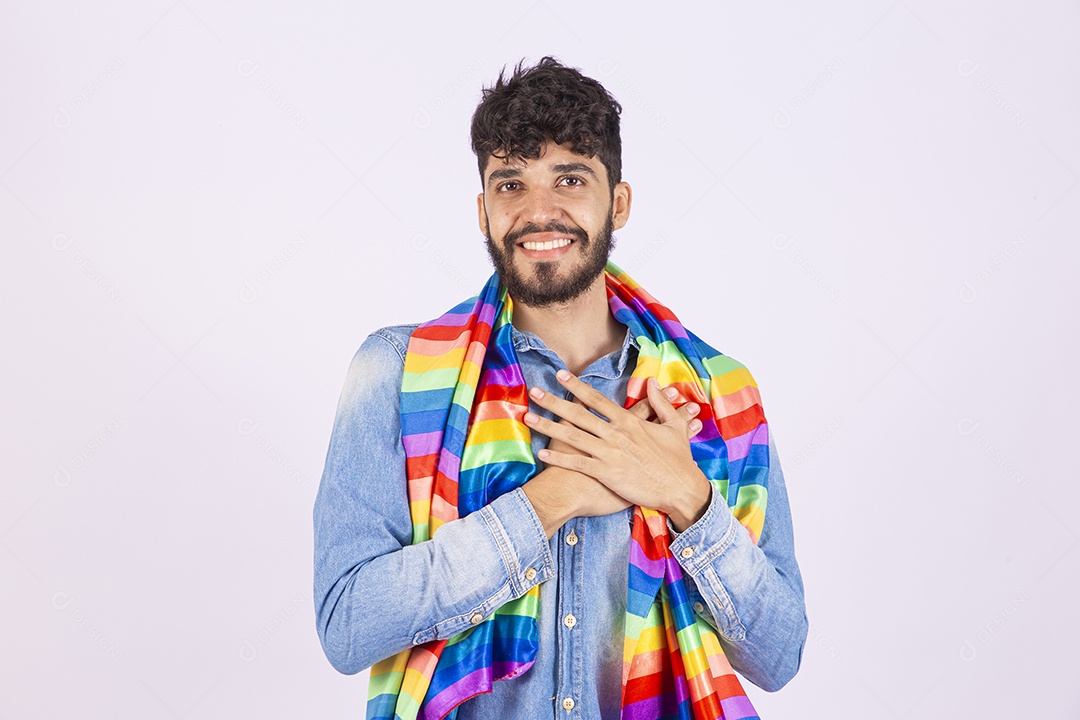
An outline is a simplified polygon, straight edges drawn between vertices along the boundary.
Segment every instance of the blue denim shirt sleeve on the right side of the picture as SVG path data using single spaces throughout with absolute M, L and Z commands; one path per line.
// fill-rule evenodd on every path
M 670 524 L 669 529 L 672 554 L 690 580 L 687 592 L 696 612 L 716 628 L 732 667 L 774 692 L 798 671 L 809 626 L 787 489 L 772 433 L 768 487 L 757 545 L 717 492 L 697 522 L 681 533 Z

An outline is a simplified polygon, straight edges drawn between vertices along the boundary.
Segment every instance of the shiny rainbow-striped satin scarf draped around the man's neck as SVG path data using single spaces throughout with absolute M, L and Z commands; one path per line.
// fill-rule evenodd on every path
M 698 466 L 756 543 L 768 495 L 769 431 L 757 383 L 740 363 L 692 335 L 625 272 L 608 262 L 608 302 L 638 342 L 625 407 L 646 381 L 674 385 L 678 406 L 701 406 L 690 443 Z M 481 294 L 420 325 L 402 380 L 413 543 L 464 517 L 537 472 L 525 379 L 511 340 L 513 303 L 498 275 Z M 757 718 L 724 656 L 716 631 L 694 614 L 683 570 L 669 548 L 666 516 L 634 507 L 622 668 L 622 717 Z M 456 718 L 457 706 L 491 692 L 495 680 L 528 670 L 539 642 L 540 586 L 445 640 L 376 663 L 368 718 Z

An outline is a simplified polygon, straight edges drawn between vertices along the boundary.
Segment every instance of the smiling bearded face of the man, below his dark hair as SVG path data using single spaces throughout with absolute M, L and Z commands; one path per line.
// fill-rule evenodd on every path
M 515 302 L 566 303 L 604 271 L 612 232 L 630 215 L 630 186 L 608 187 L 598 158 L 548 142 L 526 162 L 490 157 L 476 199 L 496 272 Z

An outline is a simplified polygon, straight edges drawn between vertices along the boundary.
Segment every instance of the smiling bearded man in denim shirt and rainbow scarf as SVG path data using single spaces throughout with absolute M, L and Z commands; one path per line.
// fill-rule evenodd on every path
M 608 261 L 620 111 L 550 57 L 500 76 L 472 124 L 496 274 L 353 358 L 314 597 L 334 667 L 375 665 L 368 717 L 746 718 L 732 667 L 767 691 L 798 669 L 756 385 Z

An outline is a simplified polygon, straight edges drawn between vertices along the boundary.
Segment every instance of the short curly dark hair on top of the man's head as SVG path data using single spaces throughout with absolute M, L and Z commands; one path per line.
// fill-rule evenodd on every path
M 480 165 L 481 186 L 489 157 L 534 160 L 548 140 L 571 142 L 575 152 L 599 155 L 608 186 L 622 180 L 619 105 L 604 85 L 545 56 L 529 68 L 524 58 L 503 79 L 485 87 L 472 119 L 472 149 Z

